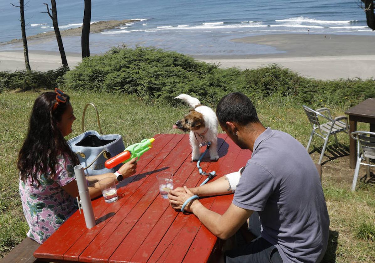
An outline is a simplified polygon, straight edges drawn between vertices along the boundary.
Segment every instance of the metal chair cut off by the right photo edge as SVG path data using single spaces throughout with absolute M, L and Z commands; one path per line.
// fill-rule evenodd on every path
M 360 165 L 366 166 L 366 175 L 368 178 L 370 177 L 370 166 L 375 167 L 374 164 L 370 164 L 370 159 L 375 160 L 375 132 L 353 131 L 350 136 L 354 140 L 357 140 L 357 164 L 352 184 L 352 191 L 354 191 L 356 190 Z M 366 161 L 366 163 L 362 163 L 362 161 Z

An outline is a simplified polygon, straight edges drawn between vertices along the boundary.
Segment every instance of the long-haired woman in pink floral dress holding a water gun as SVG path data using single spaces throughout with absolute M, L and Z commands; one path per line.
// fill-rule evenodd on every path
M 65 136 L 75 120 L 69 96 L 55 92 L 41 94 L 34 102 L 30 124 L 18 155 L 20 195 L 30 230 L 27 236 L 42 244 L 76 210 L 78 196 L 73 167 L 79 164 Z M 136 159 L 117 171 L 124 178 L 135 173 Z M 87 177 L 90 197 L 101 195 L 98 181 L 114 177 L 105 173 Z

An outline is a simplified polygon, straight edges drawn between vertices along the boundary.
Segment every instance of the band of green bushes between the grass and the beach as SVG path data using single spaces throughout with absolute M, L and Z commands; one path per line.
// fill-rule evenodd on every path
M 176 102 L 181 93 L 216 105 L 231 91 L 254 99 L 291 100 L 311 106 L 355 105 L 375 97 L 375 79 L 322 81 L 270 64 L 258 69 L 221 69 L 173 51 L 138 47 L 112 48 L 104 55 L 84 58 L 75 69 L 48 72 L 1 72 L 0 92 L 6 89 L 51 88 L 135 94 L 152 101 Z

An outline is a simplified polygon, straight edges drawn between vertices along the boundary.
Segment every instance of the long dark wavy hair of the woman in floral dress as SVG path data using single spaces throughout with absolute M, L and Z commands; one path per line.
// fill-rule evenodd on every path
M 20 178 L 24 182 L 27 178 L 31 178 L 31 184 L 36 181 L 39 186 L 38 174 L 46 175 L 48 169 L 51 169 L 49 176 L 54 176 L 57 157 L 60 154 L 71 158 L 74 164 L 79 163 L 77 155 L 72 152 L 57 127 L 69 105 L 69 96 L 64 94 L 63 97 L 66 102 L 59 102 L 53 112 L 56 93 L 42 93 L 34 102 L 27 136 L 18 154 L 17 167 L 20 170 Z

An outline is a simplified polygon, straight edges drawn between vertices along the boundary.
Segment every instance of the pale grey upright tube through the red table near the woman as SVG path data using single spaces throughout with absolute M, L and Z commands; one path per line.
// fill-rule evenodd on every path
M 78 193 L 80 194 L 80 202 L 86 221 L 86 226 L 87 228 L 92 228 L 96 223 L 83 166 L 81 164 L 74 166 L 74 173 L 75 180 L 77 181 Z M 78 206 L 80 206 L 80 204 L 78 204 Z

